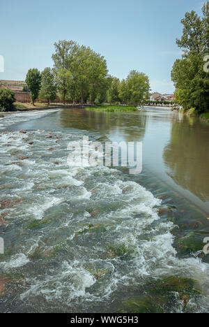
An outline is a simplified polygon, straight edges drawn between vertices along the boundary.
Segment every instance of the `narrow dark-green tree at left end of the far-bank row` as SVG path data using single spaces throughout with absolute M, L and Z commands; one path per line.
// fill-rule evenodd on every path
M 41 84 L 41 75 L 40 71 L 37 68 L 29 69 L 26 75 L 26 85 L 29 88 L 29 92 L 31 94 L 31 101 L 34 103 L 38 98 L 38 94 L 40 91 L 40 84 Z

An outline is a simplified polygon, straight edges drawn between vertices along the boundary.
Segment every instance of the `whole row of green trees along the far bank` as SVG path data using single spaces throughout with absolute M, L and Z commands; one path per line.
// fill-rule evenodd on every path
M 53 68 L 30 69 L 26 85 L 34 102 L 41 99 L 54 101 L 56 96 L 65 104 L 73 103 L 124 103 L 140 105 L 149 96 L 148 76 L 131 71 L 126 79 L 108 74 L 104 57 L 85 45 L 75 41 L 54 43 Z

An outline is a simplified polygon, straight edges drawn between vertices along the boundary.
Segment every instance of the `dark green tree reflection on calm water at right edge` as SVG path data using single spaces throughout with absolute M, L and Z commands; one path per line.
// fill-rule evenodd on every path
M 168 175 L 184 189 L 209 200 L 209 126 L 183 117 L 172 123 L 171 140 L 164 149 Z

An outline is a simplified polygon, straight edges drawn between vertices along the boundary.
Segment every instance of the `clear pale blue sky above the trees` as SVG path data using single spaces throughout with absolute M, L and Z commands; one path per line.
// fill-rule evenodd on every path
M 186 11 L 201 0 L 1 0 L 0 79 L 24 80 L 29 68 L 53 66 L 54 42 L 74 40 L 107 59 L 120 79 L 146 73 L 153 92 L 171 93 L 171 68 L 180 58 L 176 37 Z

